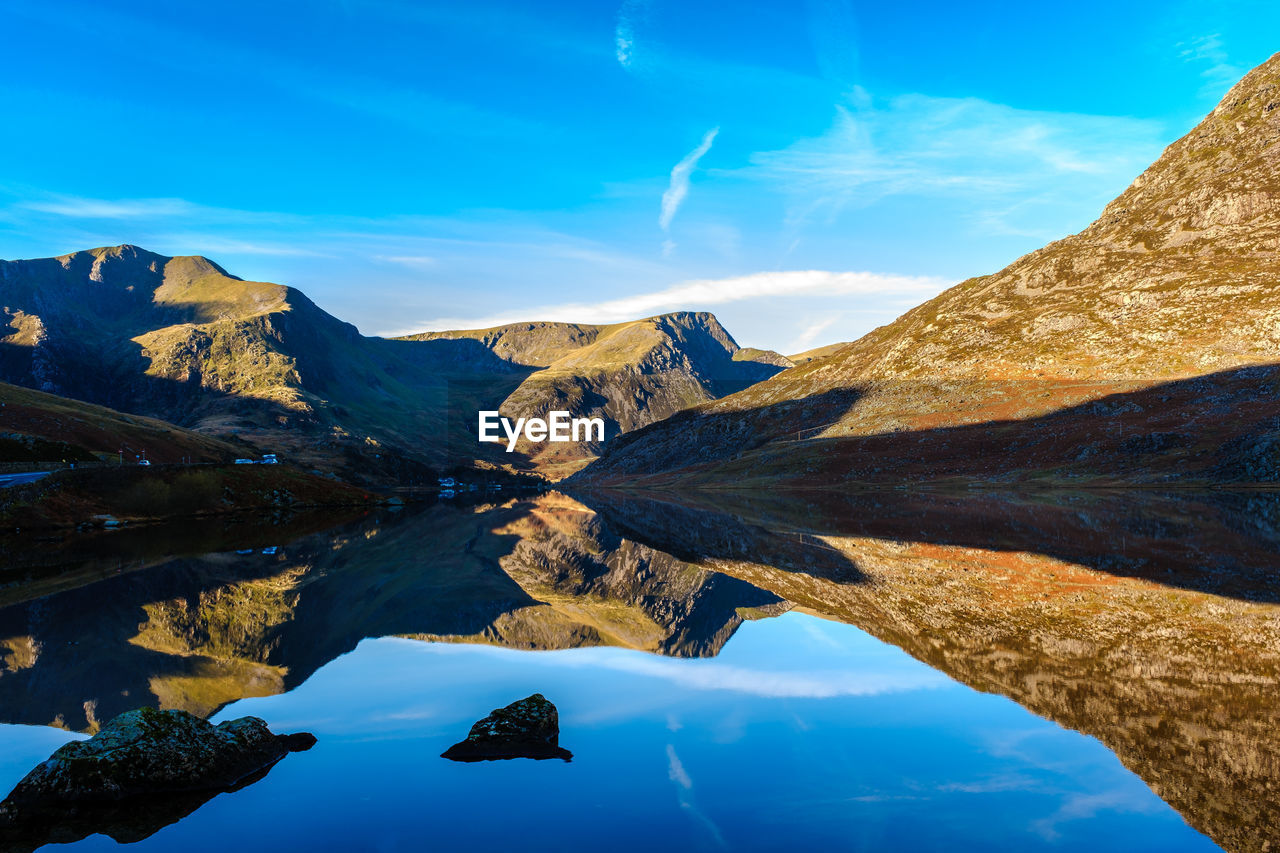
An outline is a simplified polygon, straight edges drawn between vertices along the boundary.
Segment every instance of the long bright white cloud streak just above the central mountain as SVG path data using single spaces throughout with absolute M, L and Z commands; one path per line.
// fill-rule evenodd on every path
M 667 311 L 696 311 L 717 305 L 760 300 L 774 296 L 892 296 L 922 298 L 933 296 L 952 282 L 929 275 L 892 275 L 882 273 L 836 273 L 828 270 L 787 270 L 754 273 L 732 278 L 694 279 L 660 291 L 634 293 L 602 302 L 564 302 L 522 307 L 476 318 L 436 318 L 421 328 L 398 334 L 439 329 L 483 329 L 522 320 L 559 320 L 568 323 L 620 323 Z M 812 339 L 823 330 L 818 328 Z

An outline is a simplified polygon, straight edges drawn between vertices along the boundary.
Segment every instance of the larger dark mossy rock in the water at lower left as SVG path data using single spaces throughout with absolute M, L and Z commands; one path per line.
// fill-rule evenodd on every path
M 27 774 L 0 803 L 0 839 L 5 850 L 93 833 L 141 840 L 314 744 L 305 733 L 275 735 L 257 717 L 215 726 L 186 711 L 128 711 Z

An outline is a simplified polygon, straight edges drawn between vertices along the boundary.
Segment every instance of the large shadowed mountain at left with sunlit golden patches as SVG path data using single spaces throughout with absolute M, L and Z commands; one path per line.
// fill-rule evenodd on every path
M 116 246 L 5 261 L 0 297 L 0 378 L 17 384 L 384 474 L 403 460 L 381 443 L 443 423 L 440 357 L 383 352 L 298 291 L 204 257 Z

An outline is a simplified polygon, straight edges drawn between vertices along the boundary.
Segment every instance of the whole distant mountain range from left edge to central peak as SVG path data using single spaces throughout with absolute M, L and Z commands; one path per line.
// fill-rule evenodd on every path
M 362 482 L 425 482 L 477 460 L 554 475 L 596 447 L 504 453 L 476 442 L 476 411 L 598 414 L 613 435 L 787 364 L 741 356 L 709 314 L 366 337 L 292 287 L 136 246 L 0 261 L 0 380 Z

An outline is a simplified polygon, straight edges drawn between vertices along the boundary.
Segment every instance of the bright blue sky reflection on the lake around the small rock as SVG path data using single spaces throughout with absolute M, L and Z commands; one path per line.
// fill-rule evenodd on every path
M 572 763 L 439 758 L 534 692 Z M 246 713 L 320 742 L 138 848 L 1217 849 L 1097 740 L 795 612 L 709 660 L 366 640 Z M 0 726 L 3 781 L 68 736 Z

